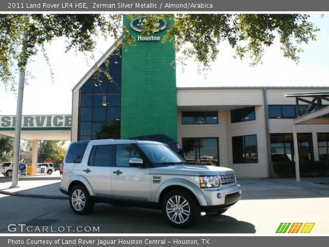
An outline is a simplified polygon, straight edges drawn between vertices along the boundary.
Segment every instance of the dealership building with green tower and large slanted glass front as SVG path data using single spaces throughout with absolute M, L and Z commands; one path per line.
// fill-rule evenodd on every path
M 297 107 L 286 96 L 316 92 L 325 105 L 329 87 L 177 88 L 173 44 L 160 41 L 170 24 L 144 38 L 142 20 L 124 18 L 136 42 L 121 49 L 118 40 L 99 59 L 112 78 L 90 69 L 72 90 L 71 140 L 166 134 L 186 160 L 230 167 L 239 177 L 266 178 L 272 162 L 294 160 L 293 119 L 317 101 Z M 327 160 L 329 122 L 312 123 L 296 127 L 299 158 Z

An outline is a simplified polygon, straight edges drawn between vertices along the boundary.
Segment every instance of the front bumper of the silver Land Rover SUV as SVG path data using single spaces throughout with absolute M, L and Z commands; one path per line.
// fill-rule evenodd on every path
M 227 188 L 201 189 L 207 201 L 206 207 L 229 207 L 241 199 L 239 184 Z

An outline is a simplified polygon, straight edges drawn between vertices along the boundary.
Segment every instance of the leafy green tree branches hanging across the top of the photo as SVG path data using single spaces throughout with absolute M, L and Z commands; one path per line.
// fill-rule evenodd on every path
M 129 15 L 131 19 L 136 16 Z M 235 49 L 236 57 L 249 56 L 252 65 L 260 63 L 264 47 L 272 45 L 276 36 L 283 56 L 298 62 L 301 44 L 314 40 L 319 30 L 305 14 L 149 14 L 144 19 L 144 34 L 152 33 L 158 19 L 165 17 L 175 21 L 165 40 L 174 40 L 176 51 L 195 57 L 206 68 L 223 41 Z M 57 37 L 66 37 L 66 50 L 81 52 L 93 50 L 99 35 L 117 39 L 123 32 L 124 44 L 132 44 L 134 38 L 122 29 L 121 19 L 120 14 L 1 14 L 0 80 L 14 90 L 17 70 L 25 68 L 39 50 L 49 62 L 44 45 Z

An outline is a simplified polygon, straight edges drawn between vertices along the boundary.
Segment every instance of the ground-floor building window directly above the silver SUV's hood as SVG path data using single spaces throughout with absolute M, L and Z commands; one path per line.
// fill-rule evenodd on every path
M 218 166 L 218 138 L 182 138 L 184 158 L 194 164 Z

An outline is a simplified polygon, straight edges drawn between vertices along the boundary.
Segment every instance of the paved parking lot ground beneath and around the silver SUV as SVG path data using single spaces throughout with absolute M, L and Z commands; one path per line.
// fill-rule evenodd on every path
M 61 194 L 57 191 L 59 182 L 56 174 L 20 178 L 20 188 L 15 190 L 26 195 L 1 193 L 0 202 L 5 206 L 0 214 L 0 233 L 27 233 L 29 230 L 39 233 L 44 227 L 48 230 L 44 233 L 273 234 L 281 222 L 314 222 L 312 233 L 329 233 L 329 186 L 314 181 L 296 185 L 291 179 L 241 180 L 243 200 L 223 216 L 203 216 L 197 224 L 183 230 L 171 227 L 160 210 L 96 204 L 92 214 L 75 215 L 65 198 L 49 198 Z M 8 192 L 9 184 L 9 178 L 0 177 L 0 192 Z M 31 192 L 36 197 L 30 197 Z M 42 198 L 42 194 L 48 198 Z M 8 228 L 10 224 L 13 228 Z M 30 228 L 19 227 L 19 224 Z

